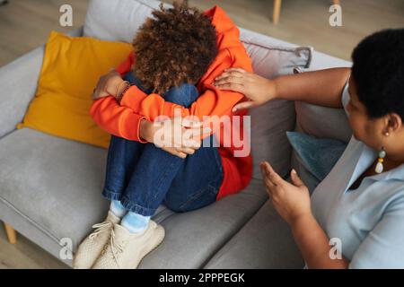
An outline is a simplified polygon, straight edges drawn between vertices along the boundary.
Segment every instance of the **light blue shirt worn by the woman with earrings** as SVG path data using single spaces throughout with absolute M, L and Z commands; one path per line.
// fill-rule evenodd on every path
M 347 86 L 342 102 L 347 111 Z M 348 114 L 348 113 L 347 113 Z M 352 136 L 346 151 L 312 193 L 312 213 L 350 268 L 404 268 L 404 164 L 347 189 L 377 159 Z

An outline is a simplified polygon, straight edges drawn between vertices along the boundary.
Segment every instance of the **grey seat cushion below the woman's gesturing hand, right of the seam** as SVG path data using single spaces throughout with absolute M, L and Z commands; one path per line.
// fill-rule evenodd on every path
M 303 268 L 290 227 L 268 200 L 206 263 L 206 269 Z

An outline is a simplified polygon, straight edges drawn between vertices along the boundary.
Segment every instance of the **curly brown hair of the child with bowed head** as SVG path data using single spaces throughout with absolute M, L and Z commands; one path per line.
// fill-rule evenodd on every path
M 188 1 L 175 1 L 169 9 L 161 4 L 153 15 L 133 41 L 136 77 L 159 94 L 198 83 L 217 55 L 215 26 Z

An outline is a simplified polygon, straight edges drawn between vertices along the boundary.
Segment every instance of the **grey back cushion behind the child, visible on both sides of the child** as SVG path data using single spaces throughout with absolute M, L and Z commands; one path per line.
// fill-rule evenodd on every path
M 154 0 L 92 0 L 84 25 L 84 36 L 130 43 L 136 30 L 159 4 Z M 273 78 L 279 74 L 290 74 L 296 66 L 307 68 L 311 64 L 312 48 L 297 48 L 243 29 L 241 39 L 251 57 L 255 73 L 261 76 Z M 260 161 L 271 162 L 284 176 L 290 169 L 291 146 L 285 132 L 294 129 L 294 103 L 274 100 L 250 109 L 250 116 L 253 177 L 260 178 Z

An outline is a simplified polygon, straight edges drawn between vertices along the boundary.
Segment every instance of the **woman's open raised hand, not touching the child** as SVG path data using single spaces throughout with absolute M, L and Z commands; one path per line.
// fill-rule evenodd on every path
M 294 170 L 291 172 L 291 184 L 281 178 L 268 162 L 262 162 L 260 168 L 272 204 L 289 225 L 312 215 L 309 189 Z

